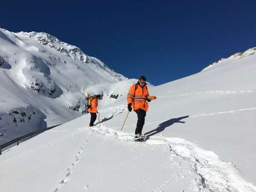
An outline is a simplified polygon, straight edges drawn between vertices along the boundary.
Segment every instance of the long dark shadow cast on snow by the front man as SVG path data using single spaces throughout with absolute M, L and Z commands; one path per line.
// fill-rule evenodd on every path
M 189 117 L 189 115 L 183 116 L 183 117 L 178 117 L 178 118 L 173 118 L 173 119 L 169 119 L 167 121 L 164 121 L 161 124 L 159 124 L 156 129 L 151 130 L 149 132 L 146 132 L 145 135 L 150 137 L 152 135 L 158 134 L 159 132 L 164 131 L 166 127 L 169 127 L 169 126 L 175 124 L 176 122 L 179 122 L 181 124 L 185 124 L 185 121 L 181 121 L 181 120 L 186 119 L 188 117 Z

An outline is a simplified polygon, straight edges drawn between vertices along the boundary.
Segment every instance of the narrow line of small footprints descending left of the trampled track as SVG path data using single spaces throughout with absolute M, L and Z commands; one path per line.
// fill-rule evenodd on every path
M 89 137 L 86 139 L 85 142 L 80 146 L 80 151 L 77 152 L 75 156 L 75 160 L 72 162 L 72 164 L 67 168 L 65 178 L 63 178 L 60 183 L 58 184 L 58 187 L 53 191 L 57 192 L 59 189 L 61 189 L 63 186 L 66 185 L 67 181 L 70 179 L 70 176 L 72 174 L 72 169 L 75 167 L 76 164 L 79 163 L 80 155 L 82 154 L 83 150 L 85 149 L 85 145 L 88 143 Z

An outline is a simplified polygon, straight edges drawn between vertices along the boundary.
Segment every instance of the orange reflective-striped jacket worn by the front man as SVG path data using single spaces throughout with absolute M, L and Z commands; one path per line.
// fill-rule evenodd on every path
M 130 87 L 130 91 L 127 94 L 127 104 L 132 104 L 134 111 L 142 109 L 147 111 L 149 104 L 146 101 L 146 97 L 149 96 L 149 90 L 147 90 L 146 84 L 141 87 L 139 82 Z

